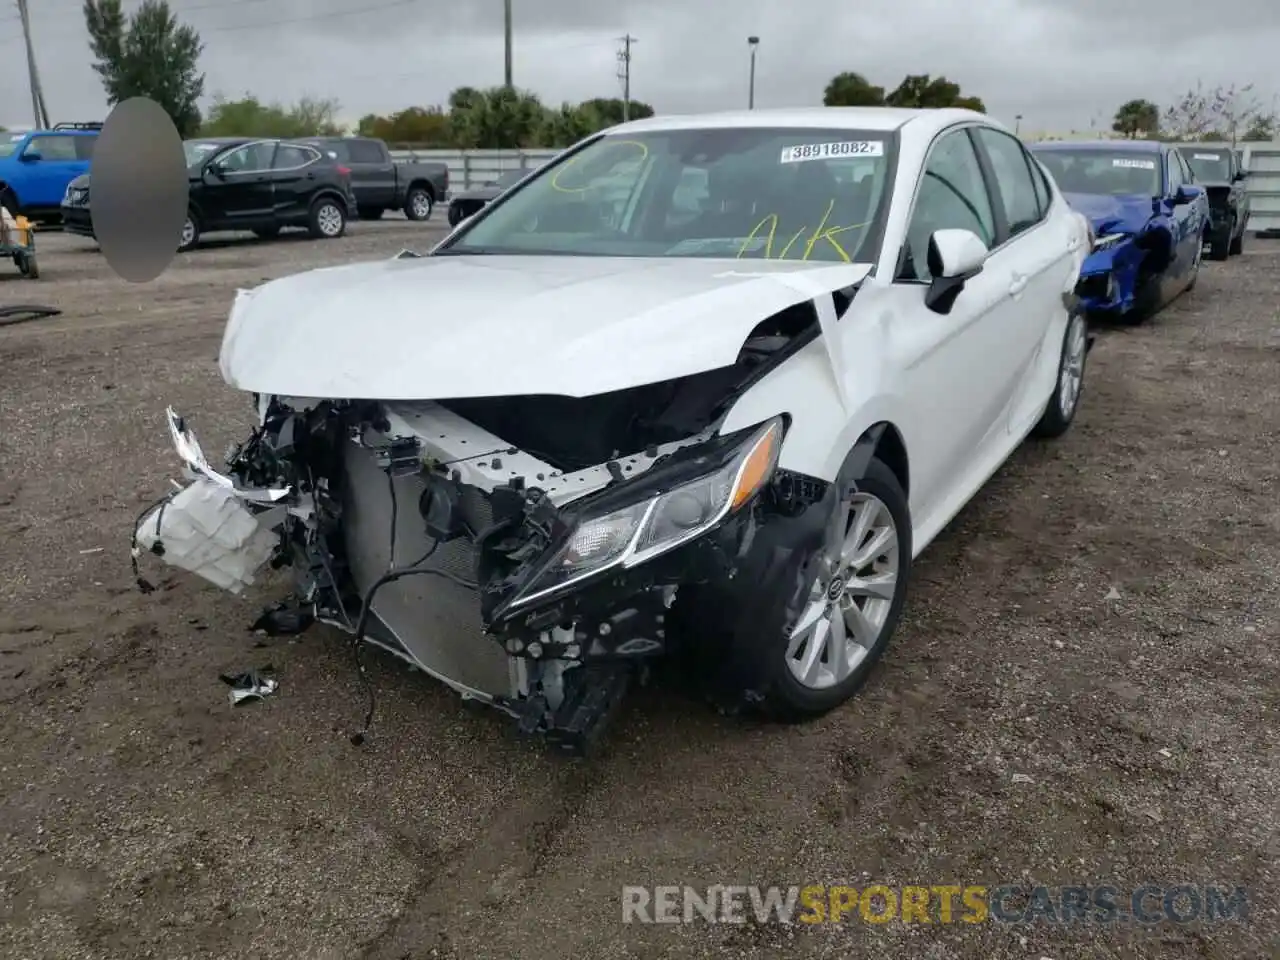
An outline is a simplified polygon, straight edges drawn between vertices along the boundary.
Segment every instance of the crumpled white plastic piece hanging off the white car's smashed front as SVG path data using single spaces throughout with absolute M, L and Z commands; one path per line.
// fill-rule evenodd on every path
M 270 558 L 287 513 L 253 513 L 227 486 L 198 477 L 142 518 L 137 543 L 145 552 L 159 543 L 165 563 L 238 594 Z

